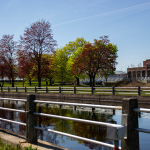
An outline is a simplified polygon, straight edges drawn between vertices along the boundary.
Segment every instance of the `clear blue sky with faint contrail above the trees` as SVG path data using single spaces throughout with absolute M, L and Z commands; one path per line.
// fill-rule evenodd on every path
M 46 19 L 58 47 L 77 37 L 93 43 L 108 35 L 118 46 L 117 70 L 150 59 L 150 0 L 1 0 L 0 38 Z

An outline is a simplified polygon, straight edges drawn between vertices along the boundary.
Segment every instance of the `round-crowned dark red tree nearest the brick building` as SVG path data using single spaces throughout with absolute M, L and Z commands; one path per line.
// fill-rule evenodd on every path
M 94 44 L 89 43 L 83 47 L 83 52 L 72 65 L 72 73 L 86 73 L 90 78 L 90 86 L 94 86 L 96 74 L 104 75 L 115 70 L 116 57 L 117 49 L 109 43 L 108 37 L 100 37 L 100 40 L 94 40 Z

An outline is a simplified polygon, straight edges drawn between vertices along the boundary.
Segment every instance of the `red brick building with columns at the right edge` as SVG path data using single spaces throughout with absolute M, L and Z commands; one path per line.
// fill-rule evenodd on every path
M 143 67 L 127 68 L 127 77 L 129 79 L 150 77 L 150 59 L 143 61 Z

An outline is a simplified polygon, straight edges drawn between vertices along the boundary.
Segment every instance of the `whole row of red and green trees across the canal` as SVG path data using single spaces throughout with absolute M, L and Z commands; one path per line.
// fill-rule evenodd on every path
M 16 77 L 38 80 L 52 80 L 61 83 L 75 83 L 89 77 L 90 86 L 95 85 L 97 75 L 114 74 L 116 69 L 117 45 L 110 43 L 108 36 L 101 36 L 89 43 L 83 37 L 69 41 L 64 47 L 54 48 L 51 24 L 45 20 L 32 23 L 24 30 L 20 41 L 13 40 L 14 35 L 3 35 L 0 39 L 0 77 L 12 81 Z M 23 82 L 24 83 L 24 82 Z

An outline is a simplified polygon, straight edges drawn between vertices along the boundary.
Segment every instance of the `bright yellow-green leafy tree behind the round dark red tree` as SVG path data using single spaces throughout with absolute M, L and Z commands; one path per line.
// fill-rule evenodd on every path
M 88 42 L 83 37 L 70 41 L 64 47 L 56 49 L 57 77 L 61 82 L 70 82 L 77 79 L 79 85 L 79 75 L 72 76 L 72 64 L 74 59 L 81 53 L 82 47 Z

